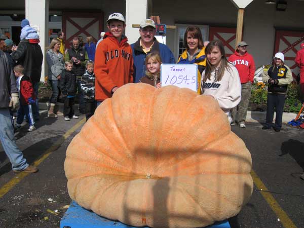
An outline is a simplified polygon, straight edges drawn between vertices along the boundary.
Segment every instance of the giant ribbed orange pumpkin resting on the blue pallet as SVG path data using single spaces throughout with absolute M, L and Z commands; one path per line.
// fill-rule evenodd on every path
M 113 220 L 203 227 L 232 217 L 252 194 L 251 156 L 210 96 L 128 84 L 73 138 L 71 199 Z

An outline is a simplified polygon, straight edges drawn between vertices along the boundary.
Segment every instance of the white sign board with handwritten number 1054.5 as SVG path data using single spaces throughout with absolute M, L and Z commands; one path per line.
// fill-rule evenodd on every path
M 177 86 L 198 91 L 197 64 L 162 64 L 161 83 L 163 86 Z

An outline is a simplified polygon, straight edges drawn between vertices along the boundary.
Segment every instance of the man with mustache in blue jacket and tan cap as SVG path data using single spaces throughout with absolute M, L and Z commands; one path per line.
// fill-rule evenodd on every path
M 164 44 L 159 43 L 154 37 L 156 34 L 155 22 L 151 19 L 145 19 L 140 23 L 138 41 L 131 45 L 134 60 L 134 82 L 145 74 L 145 57 L 150 52 L 159 52 L 163 63 L 175 63 L 171 50 Z

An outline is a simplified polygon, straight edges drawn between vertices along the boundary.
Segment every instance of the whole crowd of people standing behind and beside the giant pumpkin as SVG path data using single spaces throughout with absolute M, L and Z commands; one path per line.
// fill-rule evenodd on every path
M 65 50 L 64 33 L 59 32 L 46 52 L 48 80 L 52 88 L 49 118 L 63 116 L 65 121 L 77 119 L 83 113 L 86 120 L 93 116 L 96 107 L 112 97 L 116 90 L 127 83 L 147 83 L 160 88 L 162 63 L 197 64 L 198 93 L 218 101 L 231 125 L 246 128 L 246 113 L 251 96 L 255 64 L 247 51 L 247 43 L 238 43 L 233 55 L 226 58 L 221 41 L 204 42 L 200 28 L 189 26 L 184 34 L 185 51 L 175 61 L 171 50 L 156 40 L 156 24 L 151 19 L 140 23 L 139 39 L 128 44 L 124 35 L 125 18 L 121 13 L 110 14 L 106 21 L 108 31 L 100 34 L 95 45 L 92 37 L 76 36 L 71 48 Z M 11 121 L 12 111 L 17 111 L 16 128 L 24 118 L 29 123 L 28 131 L 35 130 L 39 121 L 38 83 L 43 61 L 39 36 L 30 27 L 28 20 L 21 22 L 21 42 L 18 47 L 9 39 L 1 41 L 0 80 L 6 96 L 0 101 L 0 121 L 6 128 L 0 130 L 1 141 L 15 172 L 36 172 L 23 158 L 14 140 Z M 1 40 L 1 37 L 0 37 Z M 304 47 L 304 45 L 303 45 Z M 304 49 L 303 49 L 304 50 Z M 297 62 L 304 72 L 303 58 Z M 303 76 L 303 77 L 302 77 Z M 16 82 L 17 78 L 17 82 Z M 301 81 L 304 84 L 304 73 Z M 274 56 L 274 65 L 264 71 L 263 81 L 268 83 L 267 120 L 262 129 L 282 127 L 282 114 L 287 91 L 291 83 L 291 70 L 284 64 L 283 53 Z M 63 113 L 59 111 L 60 96 L 64 99 Z M 75 113 L 74 100 L 79 98 L 79 113 Z M 21 102 L 19 106 L 19 100 Z M 274 111 L 276 121 L 273 125 Z

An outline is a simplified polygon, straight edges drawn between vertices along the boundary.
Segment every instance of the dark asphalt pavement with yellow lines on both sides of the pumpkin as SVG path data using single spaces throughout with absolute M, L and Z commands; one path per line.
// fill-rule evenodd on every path
M 25 126 L 16 132 L 26 159 L 39 167 L 35 174 L 13 173 L 0 147 L 1 228 L 60 226 L 71 202 L 64 174 L 65 151 L 84 118 L 67 122 L 63 117 L 46 118 L 44 112 L 37 130 L 27 132 Z M 304 130 L 286 124 L 280 132 L 261 127 L 259 122 L 247 123 L 246 129 L 232 126 L 251 153 L 256 185 L 247 205 L 229 219 L 231 227 L 303 228 L 304 180 L 299 177 L 304 169 Z

